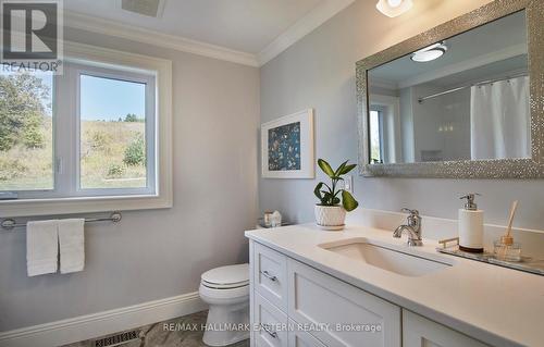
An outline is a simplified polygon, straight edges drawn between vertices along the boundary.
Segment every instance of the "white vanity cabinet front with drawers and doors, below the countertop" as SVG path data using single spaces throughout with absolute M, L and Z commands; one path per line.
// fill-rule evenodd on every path
M 251 240 L 254 347 L 485 347 Z

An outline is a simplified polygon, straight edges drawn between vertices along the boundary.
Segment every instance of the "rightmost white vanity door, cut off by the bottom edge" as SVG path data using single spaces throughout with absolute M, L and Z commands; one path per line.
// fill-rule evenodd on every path
M 403 310 L 404 347 L 486 347 L 468 337 L 419 314 Z

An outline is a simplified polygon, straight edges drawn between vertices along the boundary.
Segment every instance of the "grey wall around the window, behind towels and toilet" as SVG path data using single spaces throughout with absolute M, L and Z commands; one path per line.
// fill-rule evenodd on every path
M 25 233 L 0 232 L 0 331 L 198 289 L 213 267 L 247 261 L 257 218 L 259 71 L 66 30 L 69 40 L 173 61 L 174 208 L 86 230 L 85 271 L 26 276 Z

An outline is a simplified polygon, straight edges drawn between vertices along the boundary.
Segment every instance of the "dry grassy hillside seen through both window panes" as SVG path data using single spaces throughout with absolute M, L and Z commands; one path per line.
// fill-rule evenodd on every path
M 0 151 L 0 190 L 53 188 L 51 128 L 50 119 L 46 120 L 42 148 L 17 145 Z M 82 121 L 81 137 L 81 188 L 146 187 L 145 159 L 138 157 L 140 161 L 136 164 L 134 160 L 132 164 L 126 161 L 131 146 L 144 147 L 145 152 L 145 123 Z M 141 151 L 136 153 L 141 156 Z

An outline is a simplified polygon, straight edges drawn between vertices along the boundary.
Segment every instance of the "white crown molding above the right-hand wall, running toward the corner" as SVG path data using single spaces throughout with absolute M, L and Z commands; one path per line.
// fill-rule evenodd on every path
M 355 0 L 324 0 L 257 54 L 259 66 L 277 57 L 353 2 Z

